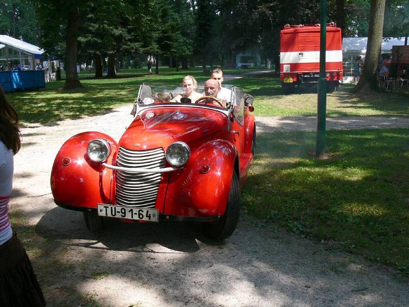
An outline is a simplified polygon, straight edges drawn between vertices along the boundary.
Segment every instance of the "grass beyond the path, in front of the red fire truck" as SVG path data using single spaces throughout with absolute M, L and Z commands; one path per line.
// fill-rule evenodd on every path
M 316 86 L 301 86 L 296 93 L 284 95 L 280 80 L 274 76 L 244 77 L 232 82 L 255 97 L 258 116 L 316 116 Z M 327 116 L 409 116 L 409 92 L 351 94 L 352 85 L 339 87 L 327 95 Z

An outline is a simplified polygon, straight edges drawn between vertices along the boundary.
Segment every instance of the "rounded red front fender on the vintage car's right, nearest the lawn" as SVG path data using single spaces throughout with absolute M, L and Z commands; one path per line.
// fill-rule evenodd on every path
M 184 168 L 171 173 L 165 214 L 223 215 L 236 164 L 238 167 L 237 157 L 237 148 L 226 140 L 213 140 L 199 146 Z

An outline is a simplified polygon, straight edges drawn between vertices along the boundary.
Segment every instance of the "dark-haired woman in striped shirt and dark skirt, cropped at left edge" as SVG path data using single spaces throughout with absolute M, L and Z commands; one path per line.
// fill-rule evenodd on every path
M 42 307 L 46 300 L 8 215 L 20 136 L 18 116 L 0 86 L 0 306 Z

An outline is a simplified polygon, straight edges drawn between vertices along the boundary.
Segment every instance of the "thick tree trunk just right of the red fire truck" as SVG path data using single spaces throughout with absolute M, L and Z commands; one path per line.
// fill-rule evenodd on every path
M 376 72 L 382 45 L 382 26 L 385 12 L 385 0 L 371 0 L 367 52 L 363 63 L 362 75 L 354 92 L 376 90 Z

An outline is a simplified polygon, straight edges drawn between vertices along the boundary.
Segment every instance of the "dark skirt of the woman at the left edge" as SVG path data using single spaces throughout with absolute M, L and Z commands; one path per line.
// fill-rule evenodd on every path
M 0 306 L 43 307 L 46 300 L 16 234 L 0 246 Z

